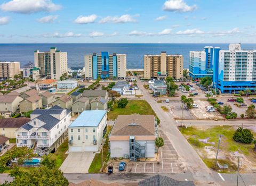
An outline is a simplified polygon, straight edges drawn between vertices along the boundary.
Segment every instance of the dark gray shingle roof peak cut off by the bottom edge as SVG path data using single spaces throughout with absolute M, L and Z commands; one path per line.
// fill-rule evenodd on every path
M 155 175 L 139 182 L 139 186 L 193 186 L 193 181 L 178 181 L 171 177 Z

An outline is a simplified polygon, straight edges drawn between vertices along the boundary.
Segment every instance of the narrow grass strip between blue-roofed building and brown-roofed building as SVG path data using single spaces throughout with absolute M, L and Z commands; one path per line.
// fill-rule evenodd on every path
M 106 133 L 106 141 L 105 144 L 103 146 L 103 162 L 108 162 L 108 134 L 111 131 L 111 126 L 108 126 L 107 128 L 107 133 Z M 99 154 L 95 154 L 93 160 L 92 160 L 92 164 L 90 165 L 89 168 L 89 173 L 99 173 L 100 169 L 101 169 L 101 154 L 102 151 L 100 151 Z M 103 166 L 103 169 L 105 169 L 106 166 Z

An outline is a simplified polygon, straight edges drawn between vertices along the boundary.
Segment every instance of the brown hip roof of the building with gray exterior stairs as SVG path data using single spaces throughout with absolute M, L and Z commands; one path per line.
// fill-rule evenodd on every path
M 111 136 L 155 135 L 154 115 L 118 115 Z

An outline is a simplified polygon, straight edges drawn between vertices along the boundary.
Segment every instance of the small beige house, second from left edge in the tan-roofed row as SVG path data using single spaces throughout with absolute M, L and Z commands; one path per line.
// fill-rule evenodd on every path
M 42 107 L 42 98 L 37 94 L 27 97 L 20 102 L 20 112 L 34 111 Z

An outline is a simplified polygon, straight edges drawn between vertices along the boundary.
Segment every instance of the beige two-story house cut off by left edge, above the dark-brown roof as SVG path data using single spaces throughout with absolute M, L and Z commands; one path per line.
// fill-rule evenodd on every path
M 0 115 L 6 118 L 11 117 L 12 113 L 17 112 L 22 100 L 19 96 L 0 96 Z

